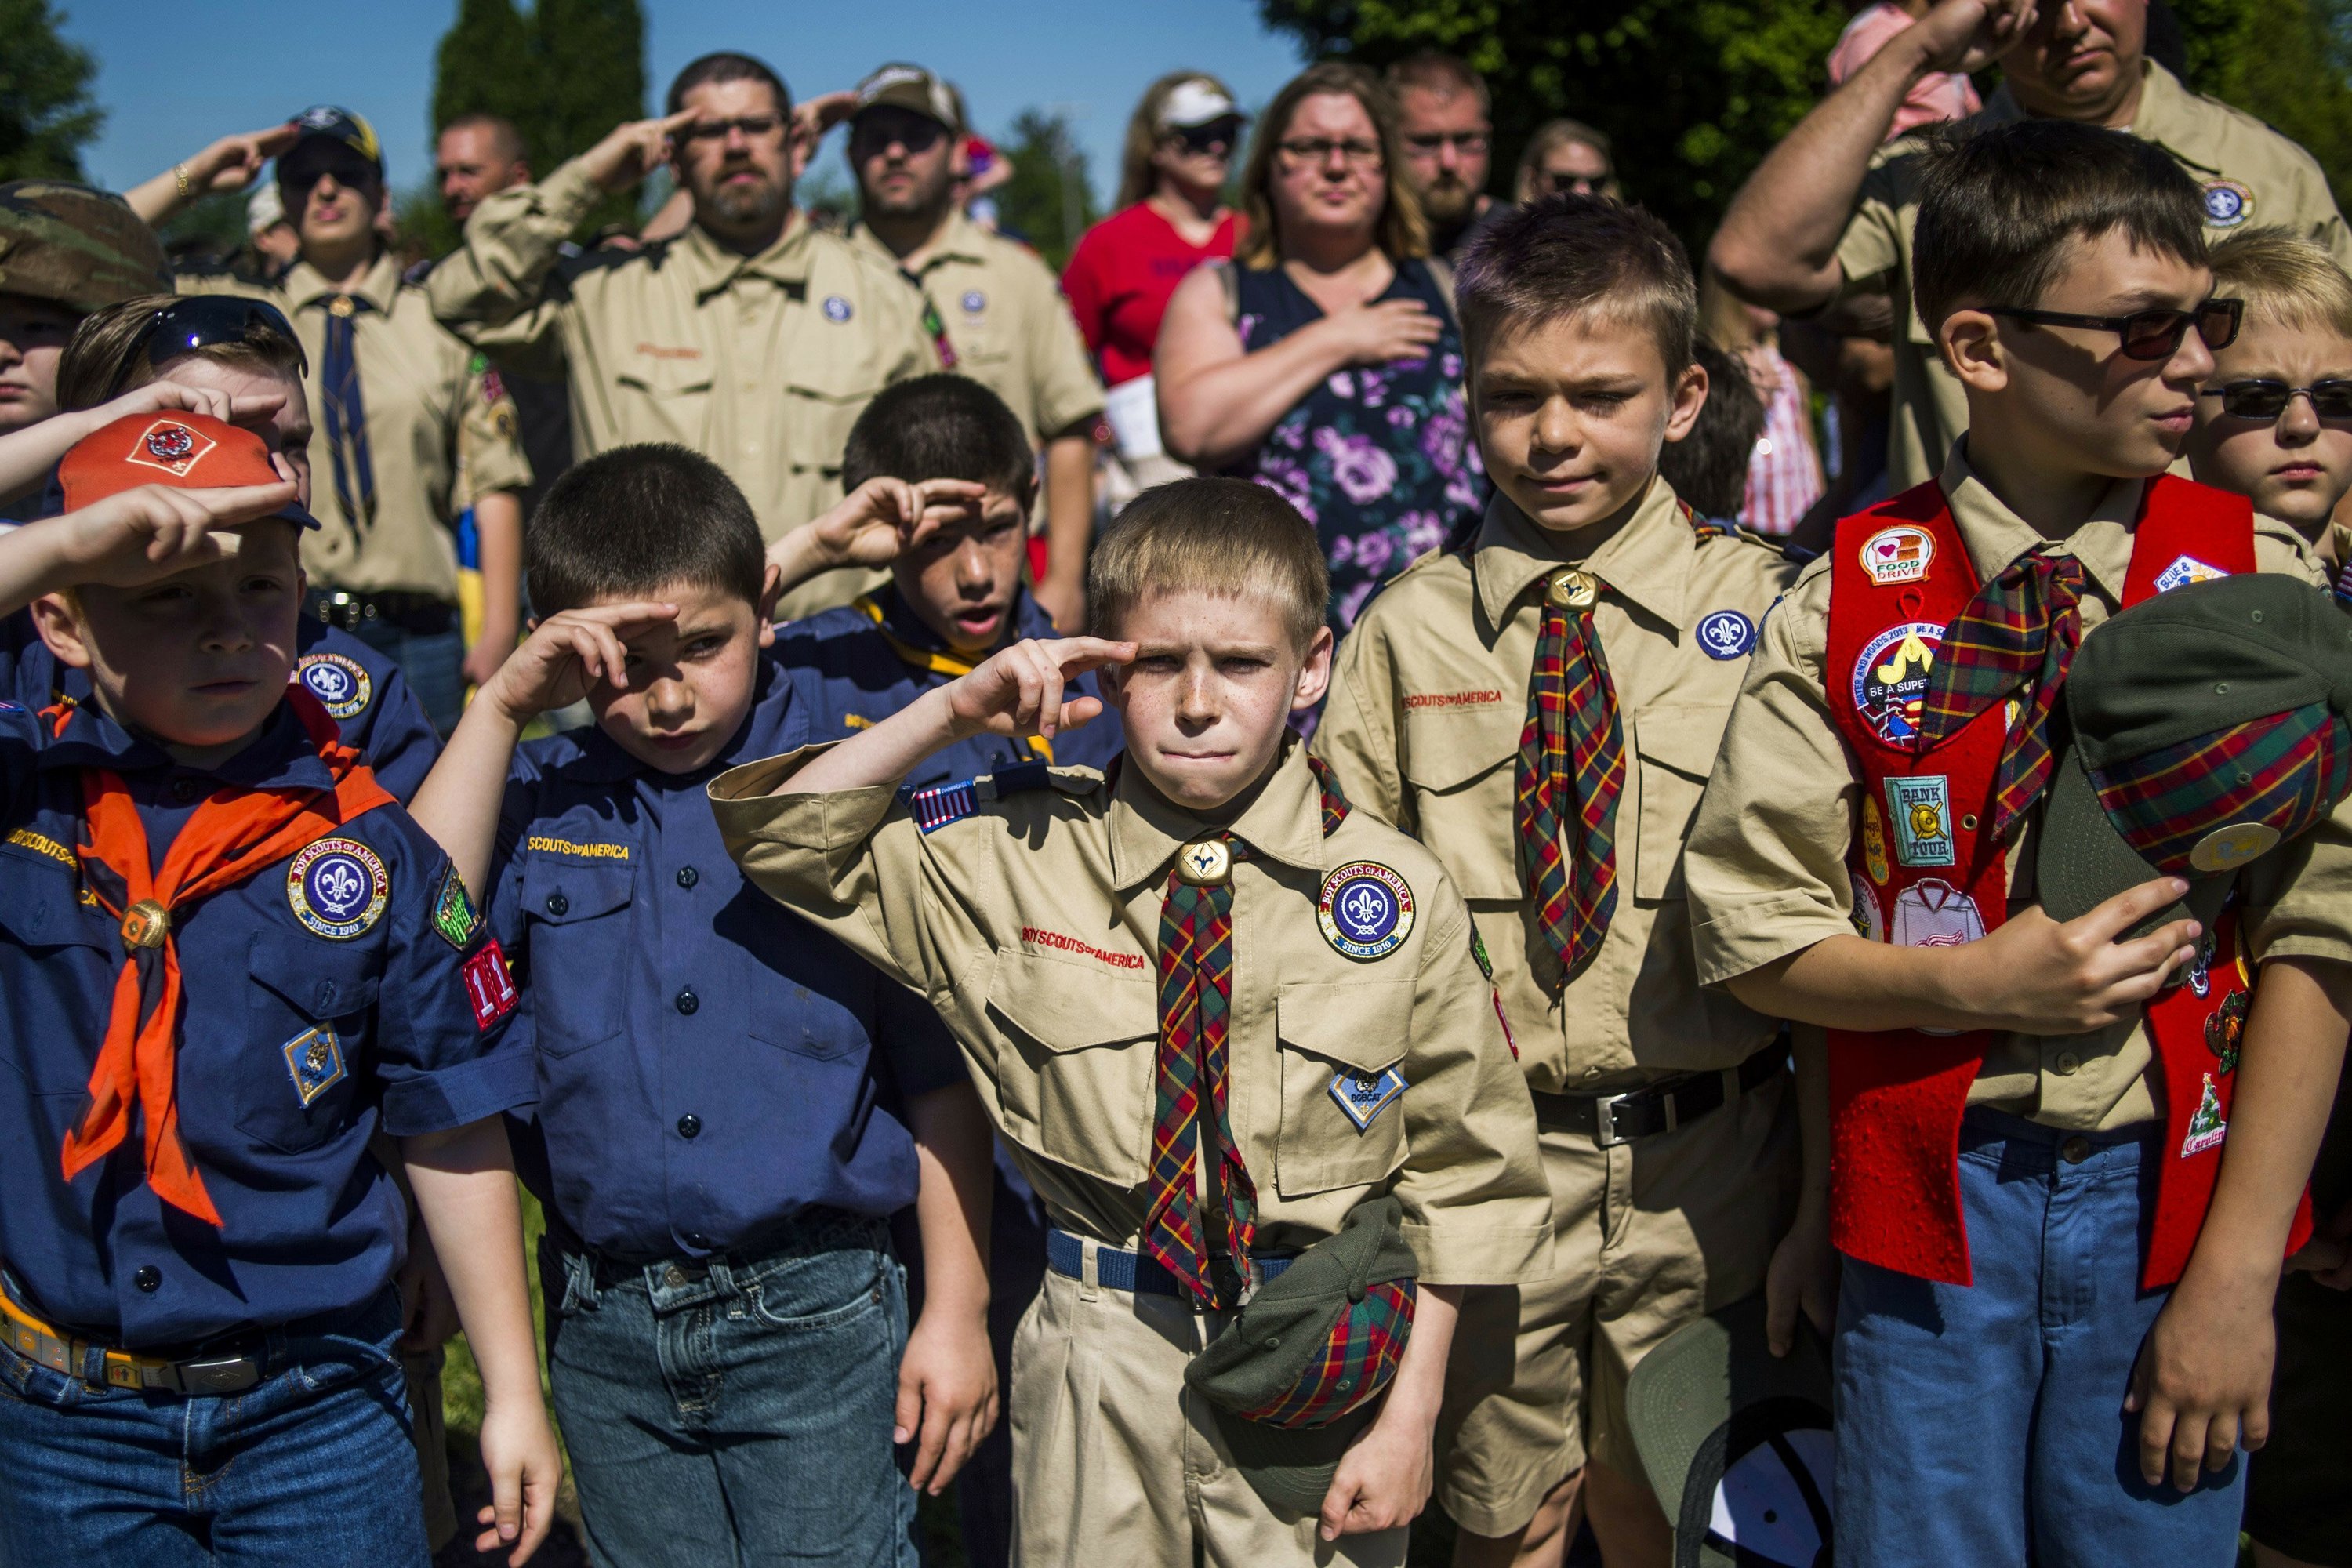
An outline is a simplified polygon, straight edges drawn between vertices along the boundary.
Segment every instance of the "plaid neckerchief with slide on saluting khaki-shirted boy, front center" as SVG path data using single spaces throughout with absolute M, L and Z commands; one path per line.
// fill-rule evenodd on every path
M 1348 799 L 1322 762 L 1310 759 L 1322 785 L 1324 837 L 1348 818 Z M 1214 879 L 1200 879 L 1195 851 L 1218 846 L 1207 860 L 1223 860 Z M 1225 1032 L 1232 1016 L 1232 865 L 1249 858 L 1249 844 L 1218 832 L 1176 853 L 1167 900 L 1160 905 L 1160 1053 L 1155 1060 L 1150 1213 L 1143 1251 L 1155 1258 L 1200 1307 L 1237 1307 L 1235 1291 L 1249 1279 L 1249 1253 L 1258 1237 L 1258 1187 L 1242 1164 L 1225 1110 L 1232 1058 Z M 1195 1190 L 1204 1140 L 1214 1140 L 1207 1213 Z M 1230 1255 L 1235 1276 L 1223 1284 L 1211 1267 Z

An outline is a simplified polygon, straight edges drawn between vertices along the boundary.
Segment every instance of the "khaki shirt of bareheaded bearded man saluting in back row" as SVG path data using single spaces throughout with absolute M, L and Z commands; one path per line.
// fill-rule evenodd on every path
M 579 456 L 691 447 L 743 487 L 769 541 L 840 501 L 849 425 L 891 381 L 938 369 L 915 292 L 802 214 L 757 256 L 696 223 L 557 268 L 600 197 L 579 160 L 492 195 L 426 280 L 433 310 L 517 374 L 569 369 Z M 851 576 L 804 583 L 790 616 L 847 604 Z

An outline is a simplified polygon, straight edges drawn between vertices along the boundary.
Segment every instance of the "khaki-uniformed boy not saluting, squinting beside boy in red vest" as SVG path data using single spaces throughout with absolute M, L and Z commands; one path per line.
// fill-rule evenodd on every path
M 1470 900 L 1552 1187 L 1559 1272 L 1465 1309 L 1517 1354 L 1491 1392 L 1482 1356 L 1458 1356 L 1456 1561 L 1557 1561 L 1583 1502 L 1611 1563 L 1663 1563 L 1625 1375 L 1764 1284 L 1797 1192 L 1788 1048 L 1700 990 L 1679 875 L 1792 569 L 1696 524 L 1658 475 L 1710 397 L 1698 289 L 1658 219 L 1522 207 L 1470 247 L 1456 301 L 1496 496 L 1465 550 L 1423 555 L 1367 607 L 1315 752 Z

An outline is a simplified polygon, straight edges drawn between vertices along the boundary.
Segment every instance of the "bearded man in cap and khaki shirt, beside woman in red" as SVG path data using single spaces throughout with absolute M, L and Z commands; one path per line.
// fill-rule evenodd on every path
M 1094 527 L 1094 421 L 1103 383 L 1037 252 L 988 233 L 955 202 L 962 103 L 922 66 L 882 66 L 858 82 L 849 167 L 858 176 L 851 240 L 903 270 L 929 306 L 938 357 L 1004 400 L 1044 444 L 1047 567 L 1037 602 L 1065 630 L 1087 609 Z

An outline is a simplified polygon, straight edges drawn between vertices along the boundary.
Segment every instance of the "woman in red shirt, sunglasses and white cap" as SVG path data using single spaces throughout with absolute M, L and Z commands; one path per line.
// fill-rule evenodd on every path
M 1152 348 L 1183 275 L 1232 256 L 1242 240 L 1225 176 L 1244 122 L 1214 75 L 1174 71 L 1152 82 L 1127 122 L 1117 212 L 1080 237 L 1061 275 L 1108 388 L 1105 416 L 1134 489 L 1190 473 L 1160 449 Z

